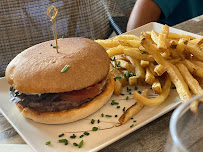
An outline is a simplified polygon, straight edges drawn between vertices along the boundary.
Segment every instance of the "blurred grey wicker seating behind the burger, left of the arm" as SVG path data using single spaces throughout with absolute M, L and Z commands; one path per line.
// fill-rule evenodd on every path
M 58 9 L 57 35 L 106 39 L 125 32 L 136 0 L 1 0 L 0 76 L 26 48 L 54 39 L 47 8 Z

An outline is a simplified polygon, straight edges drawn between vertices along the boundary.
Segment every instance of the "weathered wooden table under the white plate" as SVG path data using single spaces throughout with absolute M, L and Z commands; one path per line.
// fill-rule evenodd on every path
M 174 26 L 177 29 L 203 35 L 203 15 Z M 101 152 L 161 152 L 167 140 L 173 111 L 100 150 Z M 33 152 L 0 113 L 0 151 Z

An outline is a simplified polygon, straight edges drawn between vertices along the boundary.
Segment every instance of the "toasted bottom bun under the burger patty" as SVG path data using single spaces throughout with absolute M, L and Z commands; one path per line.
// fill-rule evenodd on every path
M 26 118 L 45 124 L 64 124 L 83 119 L 100 109 L 110 99 L 114 91 L 114 79 L 109 74 L 109 81 L 105 90 L 92 101 L 82 104 L 79 108 L 59 112 L 38 112 L 16 103 L 18 109 Z

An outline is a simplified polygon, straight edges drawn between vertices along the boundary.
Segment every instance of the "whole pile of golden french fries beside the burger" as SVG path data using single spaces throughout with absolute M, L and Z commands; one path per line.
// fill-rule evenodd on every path
M 126 123 L 144 106 L 158 106 L 168 97 L 171 82 L 182 102 L 192 95 L 203 94 L 203 38 L 170 33 L 167 25 L 160 33 L 154 30 L 135 35 L 119 35 L 113 39 L 95 40 L 102 45 L 111 58 L 110 71 L 114 75 L 116 95 L 126 85 L 151 85 L 155 98 L 148 98 L 148 90 L 142 94 L 135 91 L 137 101 L 119 118 Z M 164 82 L 164 84 L 163 84 Z M 202 100 L 200 100 L 202 101 Z M 199 101 L 190 109 L 197 113 Z

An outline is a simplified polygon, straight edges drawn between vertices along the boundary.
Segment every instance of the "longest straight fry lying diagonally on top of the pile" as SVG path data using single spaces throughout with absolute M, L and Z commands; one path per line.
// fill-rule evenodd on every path
M 170 62 L 165 60 L 159 53 L 157 53 L 159 52 L 159 50 L 156 48 L 156 46 L 154 46 L 154 44 L 152 44 L 152 40 L 142 38 L 141 44 L 145 47 L 146 50 L 148 50 L 148 53 L 150 53 L 154 57 L 158 64 L 164 66 L 171 78 L 171 81 L 175 84 L 181 100 L 186 101 L 187 99 L 189 99 L 191 97 L 191 93 L 177 67 L 172 65 Z

